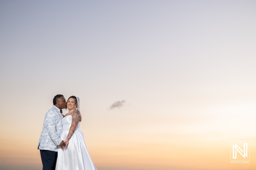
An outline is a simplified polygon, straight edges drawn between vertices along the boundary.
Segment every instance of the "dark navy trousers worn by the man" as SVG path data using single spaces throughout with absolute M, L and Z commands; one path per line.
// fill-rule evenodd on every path
M 55 170 L 58 152 L 40 150 L 40 154 L 43 163 L 43 170 Z

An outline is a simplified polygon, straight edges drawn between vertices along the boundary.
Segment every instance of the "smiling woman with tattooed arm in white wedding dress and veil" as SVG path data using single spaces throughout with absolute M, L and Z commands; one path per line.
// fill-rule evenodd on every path
M 60 135 L 66 148 L 58 147 L 58 170 L 97 170 L 87 150 L 84 134 L 79 129 L 82 121 L 79 98 L 70 96 L 67 107 L 69 112 L 62 119 L 63 132 Z

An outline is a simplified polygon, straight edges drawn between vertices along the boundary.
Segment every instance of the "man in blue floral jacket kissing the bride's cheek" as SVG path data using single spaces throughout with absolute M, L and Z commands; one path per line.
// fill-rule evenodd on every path
M 60 139 L 62 133 L 62 110 L 67 107 L 66 99 L 62 94 L 53 98 L 53 107 L 44 116 L 44 125 L 39 138 L 37 149 L 40 149 L 43 170 L 55 170 L 58 146 L 65 147 L 65 143 Z

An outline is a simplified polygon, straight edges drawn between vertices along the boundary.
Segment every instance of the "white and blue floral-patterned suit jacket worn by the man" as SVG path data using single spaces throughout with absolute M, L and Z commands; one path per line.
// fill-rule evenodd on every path
M 44 125 L 37 149 L 58 152 L 58 145 L 62 141 L 62 115 L 56 106 L 50 108 L 44 116 Z

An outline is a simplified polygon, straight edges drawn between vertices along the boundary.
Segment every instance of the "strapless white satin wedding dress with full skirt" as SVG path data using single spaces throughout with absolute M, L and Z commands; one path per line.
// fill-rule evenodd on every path
M 62 140 L 66 140 L 71 123 L 71 115 L 62 119 L 63 132 L 60 136 Z M 67 148 L 58 147 L 58 170 L 97 170 L 87 150 L 84 134 L 79 127 L 80 122 Z

